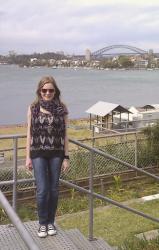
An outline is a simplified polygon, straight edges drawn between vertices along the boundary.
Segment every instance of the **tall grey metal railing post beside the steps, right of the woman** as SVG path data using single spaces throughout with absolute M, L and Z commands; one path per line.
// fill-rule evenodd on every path
M 89 235 L 88 239 L 93 240 L 93 169 L 94 169 L 94 153 L 90 151 L 89 161 Z

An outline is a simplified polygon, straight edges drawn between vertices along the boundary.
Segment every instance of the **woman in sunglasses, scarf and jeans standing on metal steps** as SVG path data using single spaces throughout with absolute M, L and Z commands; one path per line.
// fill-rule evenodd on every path
M 67 108 L 53 77 L 43 77 L 28 108 L 26 166 L 34 169 L 39 237 L 57 233 L 54 220 L 61 168 L 69 167 Z

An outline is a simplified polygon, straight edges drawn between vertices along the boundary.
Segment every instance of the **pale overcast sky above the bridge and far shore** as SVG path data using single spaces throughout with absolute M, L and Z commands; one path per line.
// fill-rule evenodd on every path
M 159 0 L 4 0 L 0 54 L 84 54 L 126 44 L 159 52 Z

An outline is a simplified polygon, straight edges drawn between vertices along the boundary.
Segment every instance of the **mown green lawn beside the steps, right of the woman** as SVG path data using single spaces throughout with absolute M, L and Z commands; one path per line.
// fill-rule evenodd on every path
M 133 203 L 131 207 L 159 217 L 159 201 L 144 204 Z M 88 211 L 57 217 L 64 229 L 78 228 L 88 236 Z M 159 228 L 158 224 L 141 216 L 116 207 L 102 207 L 94 210 L 94 236 L 101 237 L 110 245 L 119 246 L 135 234 Z

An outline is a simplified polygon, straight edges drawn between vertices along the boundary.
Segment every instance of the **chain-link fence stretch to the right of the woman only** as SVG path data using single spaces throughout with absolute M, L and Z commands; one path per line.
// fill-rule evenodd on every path
M 157 161 L 148 146 L 147 138 L 143 133 L 125 133 L 107 136 L 98 136 L 93 139 L 81 140 L 82 143 L 95 147 L 124 162 L 139 168 L 156 166 Z M 71 168 L 65 179 L 78 180 L 89 175 L 90 152 L 77 147 L 70 152 Z M 94 154 L 94 176 L 117 174 L 129 170 L 123 164 Z

